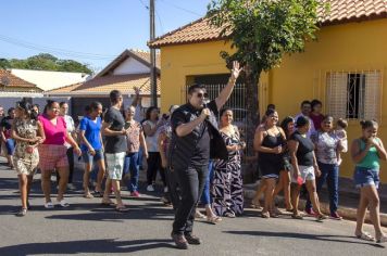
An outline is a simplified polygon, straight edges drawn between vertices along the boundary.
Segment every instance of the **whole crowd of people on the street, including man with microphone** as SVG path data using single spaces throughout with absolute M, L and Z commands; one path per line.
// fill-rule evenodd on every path
M 64 194 L 72 189 L 74 153 L 84 162 L 84 197 L 101 197 L 101 203 L 117 212 L 128 210 L 121 194 L 126 179 L 130 196 L 139 193 L 139 172 L 147 161 L 148 192 L 157 189 L 158 174 L 162 180 L 161 200 L 175 212 L 172 239 L 178 248 L 200 244 L 192 234 L 195 218 L 219 223 L 222 218 L 244 214 L 241 152 L 246 143 L 238 127 L 233 124 L 233 110 L 224 107 L 233 92 L 241 68 L 233 65 L 227 86 L 220 95 L 207 100 L 205 88 L 194 85 L 188 89 L 188 102 L 172 105 L 160 116 L 151 106 L 141 117 L 141 98 L 136 89 L 132 105 L 123 107 L 120 91 L 110 92 L 111 106 L 103 111 L 99 102 L 85 107 L 85 115 L 75 124 L 67 114 L 68 104 L 49 100 L 42 113 L 38 105 L 17 102 L 3 115 L 0 106 L 2 153 L 10 168 L 18 177 L 22 208 L 25 216 L 30 208 L 28 195 L 33 177 L 41 174 L 45 207 L 68 207 Z M 341 154 L 349 150 L 347 121 L 322 114 L 322 102 L 303 101 L 301 113 L 287 116 L 279 123 L 275 105 L 270 104 L 257 125 L 253 149 L 261 175 L 253 207 L 261 207 L 262 218 L 277 218 L 283 214 L 276 206 L 276 196 L 283 191 L 286 212 L 294 219 L 303 219 L 299 210 L 300 192 L 308 194 L 304 212 L 319 221 L 340 220 L 339 168 Z M 217 118 L 220 124 L 217 125 Z M 361 121 L 362 133 L 353 140 L 350 154 L 355 164 L 354 183 L 361 191 L 355 236 L 366 241 L 387 242 L 379 221 L 379 162 L 387 154 L 377 138 L 375 120 Z M 58 195 L 51 201 L 51 176 L 57 174 Z M 90 183 L 90 178 L 93 181 Z M 329 216 L 320 207 L 319 193 L 327 183 Z M 90 187 L 93 187 L 90 190 Z M 103 188 L 104 187 L 104 188 Z M 111 200 L 114 194 L 115 202 Z M 197 209 L 201 203 L 203 215 Z M 363 231 L 364 216 L 370 209 L 375 236 Z

